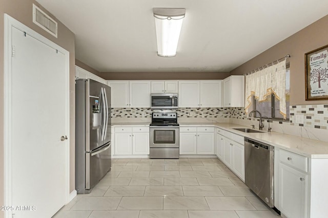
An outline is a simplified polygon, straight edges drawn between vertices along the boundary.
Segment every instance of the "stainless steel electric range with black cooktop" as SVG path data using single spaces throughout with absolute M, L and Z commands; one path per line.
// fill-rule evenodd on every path
M 154 112 L 152 114 L 149 157 L 179 158 L 177 113 Z

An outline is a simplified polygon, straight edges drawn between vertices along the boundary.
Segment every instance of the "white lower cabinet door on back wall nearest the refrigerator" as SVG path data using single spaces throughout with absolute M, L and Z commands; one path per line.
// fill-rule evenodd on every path
M 132 134 L 131 133 L 115 133 L 115 155 L 132 154 Z

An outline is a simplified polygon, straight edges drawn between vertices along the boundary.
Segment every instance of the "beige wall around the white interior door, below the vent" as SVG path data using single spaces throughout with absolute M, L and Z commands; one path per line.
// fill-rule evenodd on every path
M 75 189 L 75 45 L 74 34 L 58 22 L 58 38 L 53 37 L 32 22 L 32 4 L 40 6 L 33 0 L 0 0 L 0 51 L 4 51 L 4 13 L 9 14 L 24 25 L 60 45 L 70 53 L 70 191 Z M 42 7 L 40 7 L 42 8 Z M 42 8 L 44 10 L 44 8 Z M 46 10 L 44 10 L 47 12 Z M 50 14 L 50 13 L 48 13 Z M 54 17 L 53 17 L 54 18 Z M 3 52 L 0 52 L 0 66 L 4 65 Z M 51 78 L 49 78 L 51 80 Z M 4 84 L 4 68 L 0 67 L 0 87 Z M 4 93 L 0 89 L 0 126 L 4 126 Z M 2 129 L 2 128 L 0 128 Z M 4 143 L 3 131 L 0 131 L 0 205 L 4 205 Z M 0 217 L 3 217 L 3 211 Z

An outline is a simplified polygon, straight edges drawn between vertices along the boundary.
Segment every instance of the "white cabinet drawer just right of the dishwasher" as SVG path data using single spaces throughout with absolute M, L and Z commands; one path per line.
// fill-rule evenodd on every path
M 301 171 L 308 172 L 307 157 L 280 149 L 279 160 L 280 162 L 291 165 Z

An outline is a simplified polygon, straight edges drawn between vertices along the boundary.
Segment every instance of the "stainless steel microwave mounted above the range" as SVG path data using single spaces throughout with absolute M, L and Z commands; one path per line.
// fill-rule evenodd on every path
M 178 93 L 150 94 L 152 109 L 176 109 L 178 108 Z

